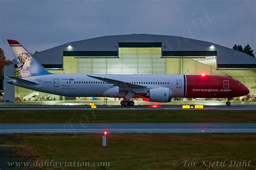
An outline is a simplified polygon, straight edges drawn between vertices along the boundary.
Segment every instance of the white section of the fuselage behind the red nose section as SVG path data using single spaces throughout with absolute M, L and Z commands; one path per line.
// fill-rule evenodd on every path
M 138 89 L 134 97 L 145 93 L 146 89 L 165 87 L 172 91 L 172 97 L 184 97 L 184 75 L 121 75 L 121 74 L 93 74 L 132 84 L 146 86 Z M 124 97 L 126 93 L 117 86 L 94 79 L 85 74 L 50 74 L 25 77 L 24 80 L 38 84 L 17 83 L 14 85 L 42 91 L 44 93 L 73 96 L 73 97 Z M 177 80 L 180 84 L 177 84 Z

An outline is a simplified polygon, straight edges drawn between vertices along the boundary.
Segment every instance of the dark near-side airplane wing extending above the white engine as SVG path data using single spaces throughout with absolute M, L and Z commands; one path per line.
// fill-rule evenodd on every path
M 122 90 L 147 88 L 146 86 L 141 86 L 141 85 L 138 85 L 138 84 L 132 84 L 132 83 L 124 82 L 124 81 L 109 79 L 109 78 L 106 78 L 106 77 L 97 77 L 97 76 L 91 76 L 91 75 L 87 75 L 87 76 L 92 77 L 94 79 L 105 81 L 106 83 L 114 84 L 114 86 L 118 86 L 119 89 L 122 89 Z

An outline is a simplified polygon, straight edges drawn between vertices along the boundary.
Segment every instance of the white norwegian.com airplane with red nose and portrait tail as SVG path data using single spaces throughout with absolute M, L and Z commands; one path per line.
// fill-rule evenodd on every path
M 122 75 L 52 74 L 16 40 L 8 43 L 14 53 L 20 78 L 5 76 L 15 86 L 43 93 L 71 97 L 123 98 L 123 106 L 133 106 L 132 98 L 148 102 L 170 102 L 171 98 L 227 98 L 250 91 L 238 80 L 218 75 Z

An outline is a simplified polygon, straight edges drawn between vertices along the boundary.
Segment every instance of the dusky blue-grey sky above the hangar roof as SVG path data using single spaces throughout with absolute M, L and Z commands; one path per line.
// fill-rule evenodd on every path
M 34 53 L 66 42 L 147 33 L 256 49 L 256 1 L 34 1 L 0 0 L 0 47 L 6 39 Z

